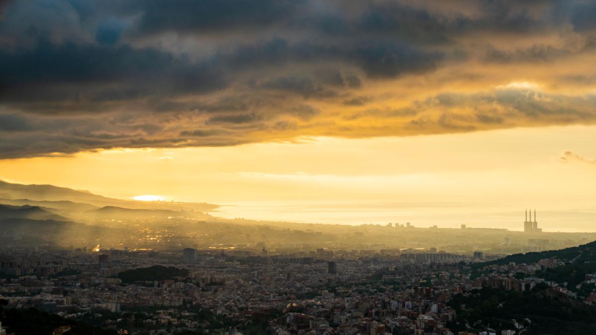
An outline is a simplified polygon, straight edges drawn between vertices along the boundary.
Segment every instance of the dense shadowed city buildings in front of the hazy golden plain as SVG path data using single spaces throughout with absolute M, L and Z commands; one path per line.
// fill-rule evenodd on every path
M 535 277 L 541 269 L 564 265 L 548 255 L 533 263 L 484 265 L 496 258 L 436 249 L 269 249 L 263 255 L 258 247 L 8 247 L 0 257 L 8 260 L 0 269 L 0 299 L 7 307 L 34 307 L 114 333 L 466 334 L 455 331 L 461 325 L 454 322 L 465 314 L 452 300 L 475 289 L 522 292 L 547 283 L 573 299 L 596 302 L 596 293 L 580 297 L 577 290 Z M 582 279 L 594 281 L 596 274 Z M 513 323 L 499 328 L 501 334 L 520 334 L 530 325 Z M 482 327 L 491 333 L 490 325 Z

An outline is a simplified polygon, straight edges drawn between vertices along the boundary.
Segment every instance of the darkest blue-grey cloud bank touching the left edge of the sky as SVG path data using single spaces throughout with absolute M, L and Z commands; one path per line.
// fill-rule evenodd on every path
M 76 110 L 85 109 L 88 100 L 209 92 L 225 85 L 221 70 L 210 64 L 193 64 L 155 48 L 39 39 L 30 48 L 0 51 L 0 97 L 16 103 L 61 101 Z

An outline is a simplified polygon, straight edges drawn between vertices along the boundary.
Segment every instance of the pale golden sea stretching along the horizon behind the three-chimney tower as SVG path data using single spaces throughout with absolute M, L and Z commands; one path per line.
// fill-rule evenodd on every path
M 523 230 L 523 204 L 486 202 L 328 202 L 305 201 L 240 202 L 219 207 L 211 215 L 257 221 L 313 224 L 406 224 L 415 227 L 507 228 Z M 532 221 L 534 219 L 532 207 Z M 552 232 L 596 232 L 596 205 L 578 201 L 541 203 L 536 206 L 538 227 Z

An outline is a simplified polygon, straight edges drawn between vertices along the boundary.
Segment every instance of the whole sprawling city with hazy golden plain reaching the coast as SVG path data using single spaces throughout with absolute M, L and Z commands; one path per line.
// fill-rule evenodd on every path
M 596 314 L 591 263 L 596 232 L 542 232 L 535 209 L 526 210 L 523 222 L 520 218 L 519 231 L 469 224 L 417 228 L 413 222 L 292 224 L 228 220 L 184 208 L 97 207 L 109 201 L 209 206 L 142 203 L 43 187 L 42 200 L 36 201 L 69 206 L 1 207 L 0 303 L 9 309 L 5 318 L 14 318 L 4 319 L 4 334 L 596 330 L 596 324 L 581 317 Z M 15 189 L 27 198 L 39 192 L 38 185 L 10 183 L 1 190 Z M 64 194 L 70 200 L 48 200 Z M 73 201 L 83 197 L 85 206 Z M 66 216 L 92 222 L 101 217 L 101 223 L 60 221 Z M 570 266 L 581 276 L 557 272 Z M 545 321 L 513 310 L 505 318 L 492 311 L 520 303 L 515 300 L 486 300 L 473 307 L 476 294 L 513 294 L 508 291 L 530 300 L 548 292 L 569 305 L 561 308 L 577 309 L 577 320 Z M 498 306 L 485 306 L 489 301 Z

